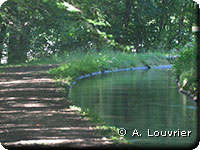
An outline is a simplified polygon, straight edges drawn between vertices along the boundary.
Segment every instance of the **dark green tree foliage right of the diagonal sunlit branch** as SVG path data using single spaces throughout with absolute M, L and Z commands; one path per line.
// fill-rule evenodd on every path
M 197 5 L 190 0 L 76 0 L 74 3 L 91 20 L 109 24 L 94 26 L 112 34 L 117 47 L 131 45 L 139 52 L 184 45 L 192 36 L 192 25 L 197 24 Z

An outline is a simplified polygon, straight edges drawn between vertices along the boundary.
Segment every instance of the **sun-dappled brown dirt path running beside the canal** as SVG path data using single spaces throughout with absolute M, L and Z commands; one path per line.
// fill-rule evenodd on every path
M 66 108 L 47 70 L 13 67 L 0 74 L 0 142 L 5 147 L 112 145 L 77 110 Z M 42 72 L 41 72 L 42 71 Z

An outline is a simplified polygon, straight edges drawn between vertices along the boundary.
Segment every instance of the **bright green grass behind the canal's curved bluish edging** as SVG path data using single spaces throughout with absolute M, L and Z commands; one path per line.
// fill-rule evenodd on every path
M 69 57 L 73 58 L 73 55 Z M 71 62 L 52 69 L 49 73 L 56 78 L 67 79 L 70 85 L 76 78 L 93 72 L 167 63 L 165 56 L 160 53 L 127 54 L 114 51 L 89 51 L 83 57 L 72 59 Z

